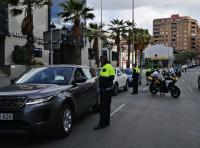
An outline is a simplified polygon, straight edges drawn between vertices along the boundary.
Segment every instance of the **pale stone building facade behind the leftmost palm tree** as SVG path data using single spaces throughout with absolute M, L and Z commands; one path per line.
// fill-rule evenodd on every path
M 21 23 L 24 14 L 13 17 L 9 12 L 11 7 L 8 5 L 0 6 L 0 65 L 15 64 L 12 60 L 12 52 L 15 47 L 24 46 L 26 36 L 21 33 Z M 44 50 L 43 32 L 48 30 L 48 6 L 41 9 L 34 9 L 34 36 L 35 48 L 34 58 L 48 64 L 49 52 Z

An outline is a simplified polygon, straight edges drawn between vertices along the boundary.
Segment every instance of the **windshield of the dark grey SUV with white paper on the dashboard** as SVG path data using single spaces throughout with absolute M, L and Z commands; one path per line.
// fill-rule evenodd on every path
M 72 67 L 33 68 L 22 75 L 16 84 L 68 84 L 73 72 Z

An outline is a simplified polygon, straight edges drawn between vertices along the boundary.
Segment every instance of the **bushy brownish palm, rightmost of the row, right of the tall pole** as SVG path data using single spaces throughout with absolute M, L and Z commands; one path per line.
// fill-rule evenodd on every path
M 142 54 L 145 47 L 149 44 L 150 34 L 148 30 L 142 28 L 134 29 L 135 59 L 137 64 L 138 51 L 140 55 L 140 65 L 142 65 Z

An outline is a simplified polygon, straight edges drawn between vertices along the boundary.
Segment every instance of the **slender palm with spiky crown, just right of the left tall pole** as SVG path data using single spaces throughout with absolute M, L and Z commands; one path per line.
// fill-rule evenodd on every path
M 121 33 L 124 28 L 124 21 L 119 19 L 113 19 L 108 26 L 111 31 L 111 38 L 115 40 L 115 44 L 117 45 L 117 66 L 120 66 L 120 41 L 121 41 Z

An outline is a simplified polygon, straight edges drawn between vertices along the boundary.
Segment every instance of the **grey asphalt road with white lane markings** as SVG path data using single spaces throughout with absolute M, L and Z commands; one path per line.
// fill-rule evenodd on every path
M 0 148 L 200 148 L 200 69 L 183 74 L 180 98 L 153 96 L 144 83 L 138 95 L 131 90 L 112 99 L 111 126 L 94 131 L 98 114 L 86 113 L 68 138 L 0 135 Z

